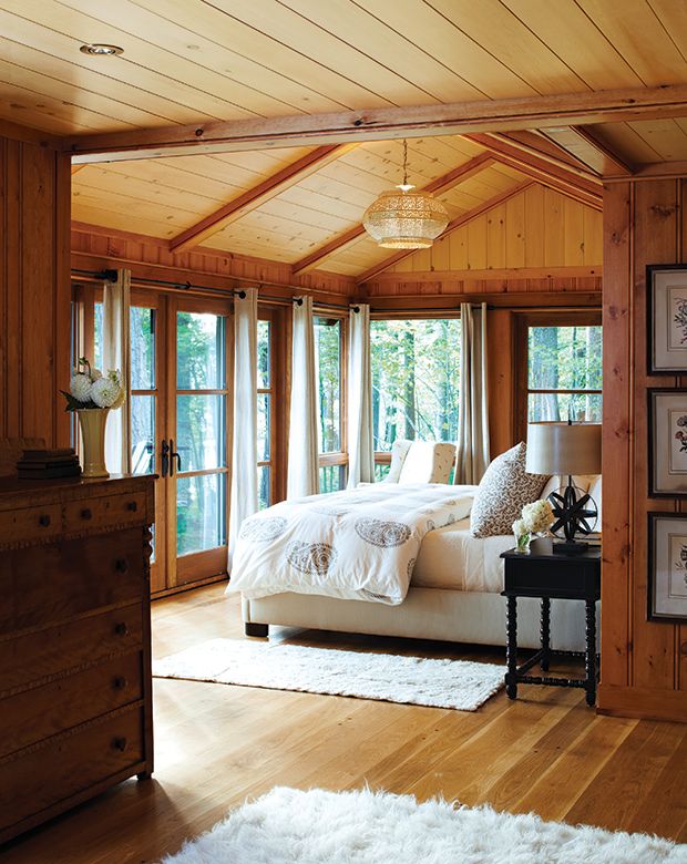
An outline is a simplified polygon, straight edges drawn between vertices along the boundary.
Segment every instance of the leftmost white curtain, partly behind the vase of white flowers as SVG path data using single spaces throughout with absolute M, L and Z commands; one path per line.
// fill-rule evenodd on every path
M 129 316 L 131 270 L 117 270 L 115 282 L 103 287 L 103 374 L 119 369 L 126 398 L 122 408 L 111 411 L 105 432 L 105 464 L 111 474 L 131 472 L 131 350 Z

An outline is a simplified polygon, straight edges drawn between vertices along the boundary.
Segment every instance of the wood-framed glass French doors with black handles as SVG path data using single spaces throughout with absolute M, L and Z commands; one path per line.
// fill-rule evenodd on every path
M 132 471 L 155 473 L 153 594 L 226 572 L 230 306 L 132 291 Z

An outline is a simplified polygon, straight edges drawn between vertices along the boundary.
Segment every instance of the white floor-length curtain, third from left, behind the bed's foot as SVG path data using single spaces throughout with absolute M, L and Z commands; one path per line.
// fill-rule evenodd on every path
M 315 357 L 312 298 L 294 299 L 291 408 L 289 419 L 287 497 L 319 492 L 319 390 Z

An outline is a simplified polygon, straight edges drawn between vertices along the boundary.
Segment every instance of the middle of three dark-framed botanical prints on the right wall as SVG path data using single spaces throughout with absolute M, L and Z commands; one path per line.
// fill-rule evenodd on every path
M 649 496 L 687 497 L 687 390 L 648 390 Z

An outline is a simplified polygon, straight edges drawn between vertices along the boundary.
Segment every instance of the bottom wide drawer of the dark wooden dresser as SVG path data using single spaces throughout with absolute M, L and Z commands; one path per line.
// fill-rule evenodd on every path
M 0 835 L 104 778 L 134 769 L 143 761 L 143 712 L 136 707 L 0 761 Z

